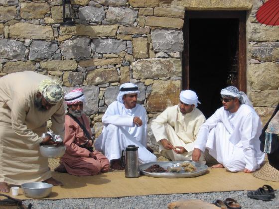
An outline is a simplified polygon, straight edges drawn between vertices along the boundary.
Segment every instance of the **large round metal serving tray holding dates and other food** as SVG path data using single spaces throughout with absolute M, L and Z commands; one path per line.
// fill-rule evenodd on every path
M 185 172 L 183 169 L 180 172 L 168 172 L 168 173 L 149 173 L 144 171 L 146 168 L 150 167 L 151 165 L 158 164 L 159 166 L 163 167 L 167 170 L 168 166 L 172 166 L 173 164 L 188 162 L 193 164 L 197 170 L 194 172 Z M 142 175 L 150 176 L 150 177 L 163 177 L 163 178 L 188 178 L 194 176 L 200 176 L 207 171 L 207 165 L 202 165 L 200 163 L 191 162 L 191 161 L 170 161 L 170 162 L 150 162 L 144 163 L 139 166 L 139 171 Z

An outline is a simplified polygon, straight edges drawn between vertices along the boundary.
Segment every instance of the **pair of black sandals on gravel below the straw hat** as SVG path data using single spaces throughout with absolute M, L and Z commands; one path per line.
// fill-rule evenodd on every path
M 271 186 L 265 184 L 258 190 L 248 191 L 247 196 L 256 200 L 271 201 L 271 199 L 275 198 L 275 192 Z

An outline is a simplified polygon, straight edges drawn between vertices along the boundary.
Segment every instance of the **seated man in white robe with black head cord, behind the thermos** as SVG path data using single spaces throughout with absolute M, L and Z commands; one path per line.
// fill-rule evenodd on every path
M 111 168 L 123 169 L 120 165 L 122 150 L 128 145 L 139 147 L 139 164 L 157 161 L 147 147 L 146 110 L 137 104 L 138 87 L 132 83 L 120 86 L 117 101 L 108 106 L 104 116 L 104 129 L 96 140 L 95 148 L 111 162 Z

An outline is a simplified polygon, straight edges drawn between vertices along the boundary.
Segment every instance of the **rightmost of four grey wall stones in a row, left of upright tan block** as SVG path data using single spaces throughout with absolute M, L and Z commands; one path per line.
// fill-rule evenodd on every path
M 97 53 L 120 53 L 126 49 L 126 41 L 116 39 L 93 39 Z

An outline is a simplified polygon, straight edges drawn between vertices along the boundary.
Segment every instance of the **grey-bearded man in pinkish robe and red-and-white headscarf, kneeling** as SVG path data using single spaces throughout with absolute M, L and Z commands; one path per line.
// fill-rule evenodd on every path
M 101 152 L 93 151 L 90 121 L 83 113 L 83 89 L 75 89 L 64 98 L 68 107 L 63 141 L 66 152 L 60 158 L 60 165 L 55 171 L 75 176 L 90 176 L 109 171 L 109 160 Z

